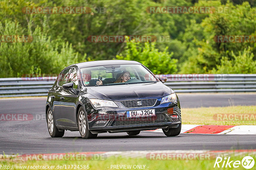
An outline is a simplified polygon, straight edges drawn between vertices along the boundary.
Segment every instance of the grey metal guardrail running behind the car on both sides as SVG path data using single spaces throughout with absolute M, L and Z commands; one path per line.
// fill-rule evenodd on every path
M 256 74 L 161 74 L 178 93 L 256 92 Z M 57 77 L 0 78 L 0 97 L 47 96 Z

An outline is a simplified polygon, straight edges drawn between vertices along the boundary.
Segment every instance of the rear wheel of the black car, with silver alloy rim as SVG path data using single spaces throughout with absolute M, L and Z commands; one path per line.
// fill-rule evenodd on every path
M 47 110 L 46 120 L 47 120 L 48 132 L 50 136 L 52 138 L 61 138 L 64 135 L 65 131 L 59 131 L 59 129 L 57 129 L 53 119 L 52 110 L 50 108 Z

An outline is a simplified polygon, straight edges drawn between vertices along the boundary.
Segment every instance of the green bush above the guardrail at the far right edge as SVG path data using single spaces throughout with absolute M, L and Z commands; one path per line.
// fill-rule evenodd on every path
M 217 69 L 212 69 L 212 74 L 256 74 L 256 60 L 253 60 L 252 49 L 244 49 L 244 52 L 235 55 L 231 52 L 233 59 L 228 60 L 222 57 L 221 65 L 217 65 Z

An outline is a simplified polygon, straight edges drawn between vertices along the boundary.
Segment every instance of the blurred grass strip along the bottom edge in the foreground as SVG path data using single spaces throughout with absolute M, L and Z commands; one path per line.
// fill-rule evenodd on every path
M 232 156 L 230 155 L 230 160 L 239 160 L 242 161 L 244 156 L 248 156 L 248 154 L 245 154 L 243 156 Z M 256 160 L 255 155 L 251 155 L 254 160 Z M 16 168 L 16 169 L 32 169 L 28 168 L 28 166 L 55 166 L 54 169 L 57 169 L 56 167 L 66 165 L 67 169 L 75 169 L 74 165 L 89 165 L 89 170 L 110 170 L 114 169 L 111 168 L 111 165 L 131 165 L 133 169 L 134 165 L 145 165 L 146 170 L 207 170 L 207 169 L 244 169 L 242 165 L 240 165 L 238 168 L 232 167 L 234 161 L 231 163 L 231 168 L 217 168 L 213 167 L 216 159 L 212 160 L 148 160 L 146 158 L 123 158 L 123 157 L 109 157 L 106 160 L 72 160 L 72 161 L 64 161 L 64 160 L 51 160 L 51 161 L 45 161 L 45 160 L 33 160 L 33 161 L 15 161 L 12 159 L 2 159 L 0 160 L 0 165 L 7 165 L 11 166 L 27 166 L 27 168 Z M 219 164 L 222 166 L 223 161 Z M 68 168 L 68 165 L 69 168 Z M 73 168 L 71 168 L 71 165 L 73 165 Z M 256 165 L 254 165 L 255 167 Z M 64 166 L 65 167 L 65 166 Z M 142 166 L 143 167 L 143 166 Z M 14 168 L 13 168 L 14 169 Z M 37 169 L 44 169 L 43 167 L 39 167 Z M 58 168 L 61 169 L 61 168 Z M 65 169 L 65 168 L 63 168 Z M 76 169 L 78 169 L 76 167 Z M 81 169 L 81 168 L 79 168 Z M 121 169 L 121 168 L 120 168 Z M 253 168 L 252 168 L 253 169 Z

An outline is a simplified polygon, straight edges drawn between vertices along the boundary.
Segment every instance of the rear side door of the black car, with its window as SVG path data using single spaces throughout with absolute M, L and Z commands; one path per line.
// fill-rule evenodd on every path
M 67 82 L 69 72 L 70 72 L 70 68 L 65 69 L 63 72 L 60 73 L 58 77 L 57 85 L 52 91 L 52 96 L 51 96 L 52 109 L 53 109 L 54 118 L 58 125 L 64 125 L 64 122 L 65 122 L 61 113 L 61 103 L 62 103 L 61 94 L 63 92 L 62 85 Z

